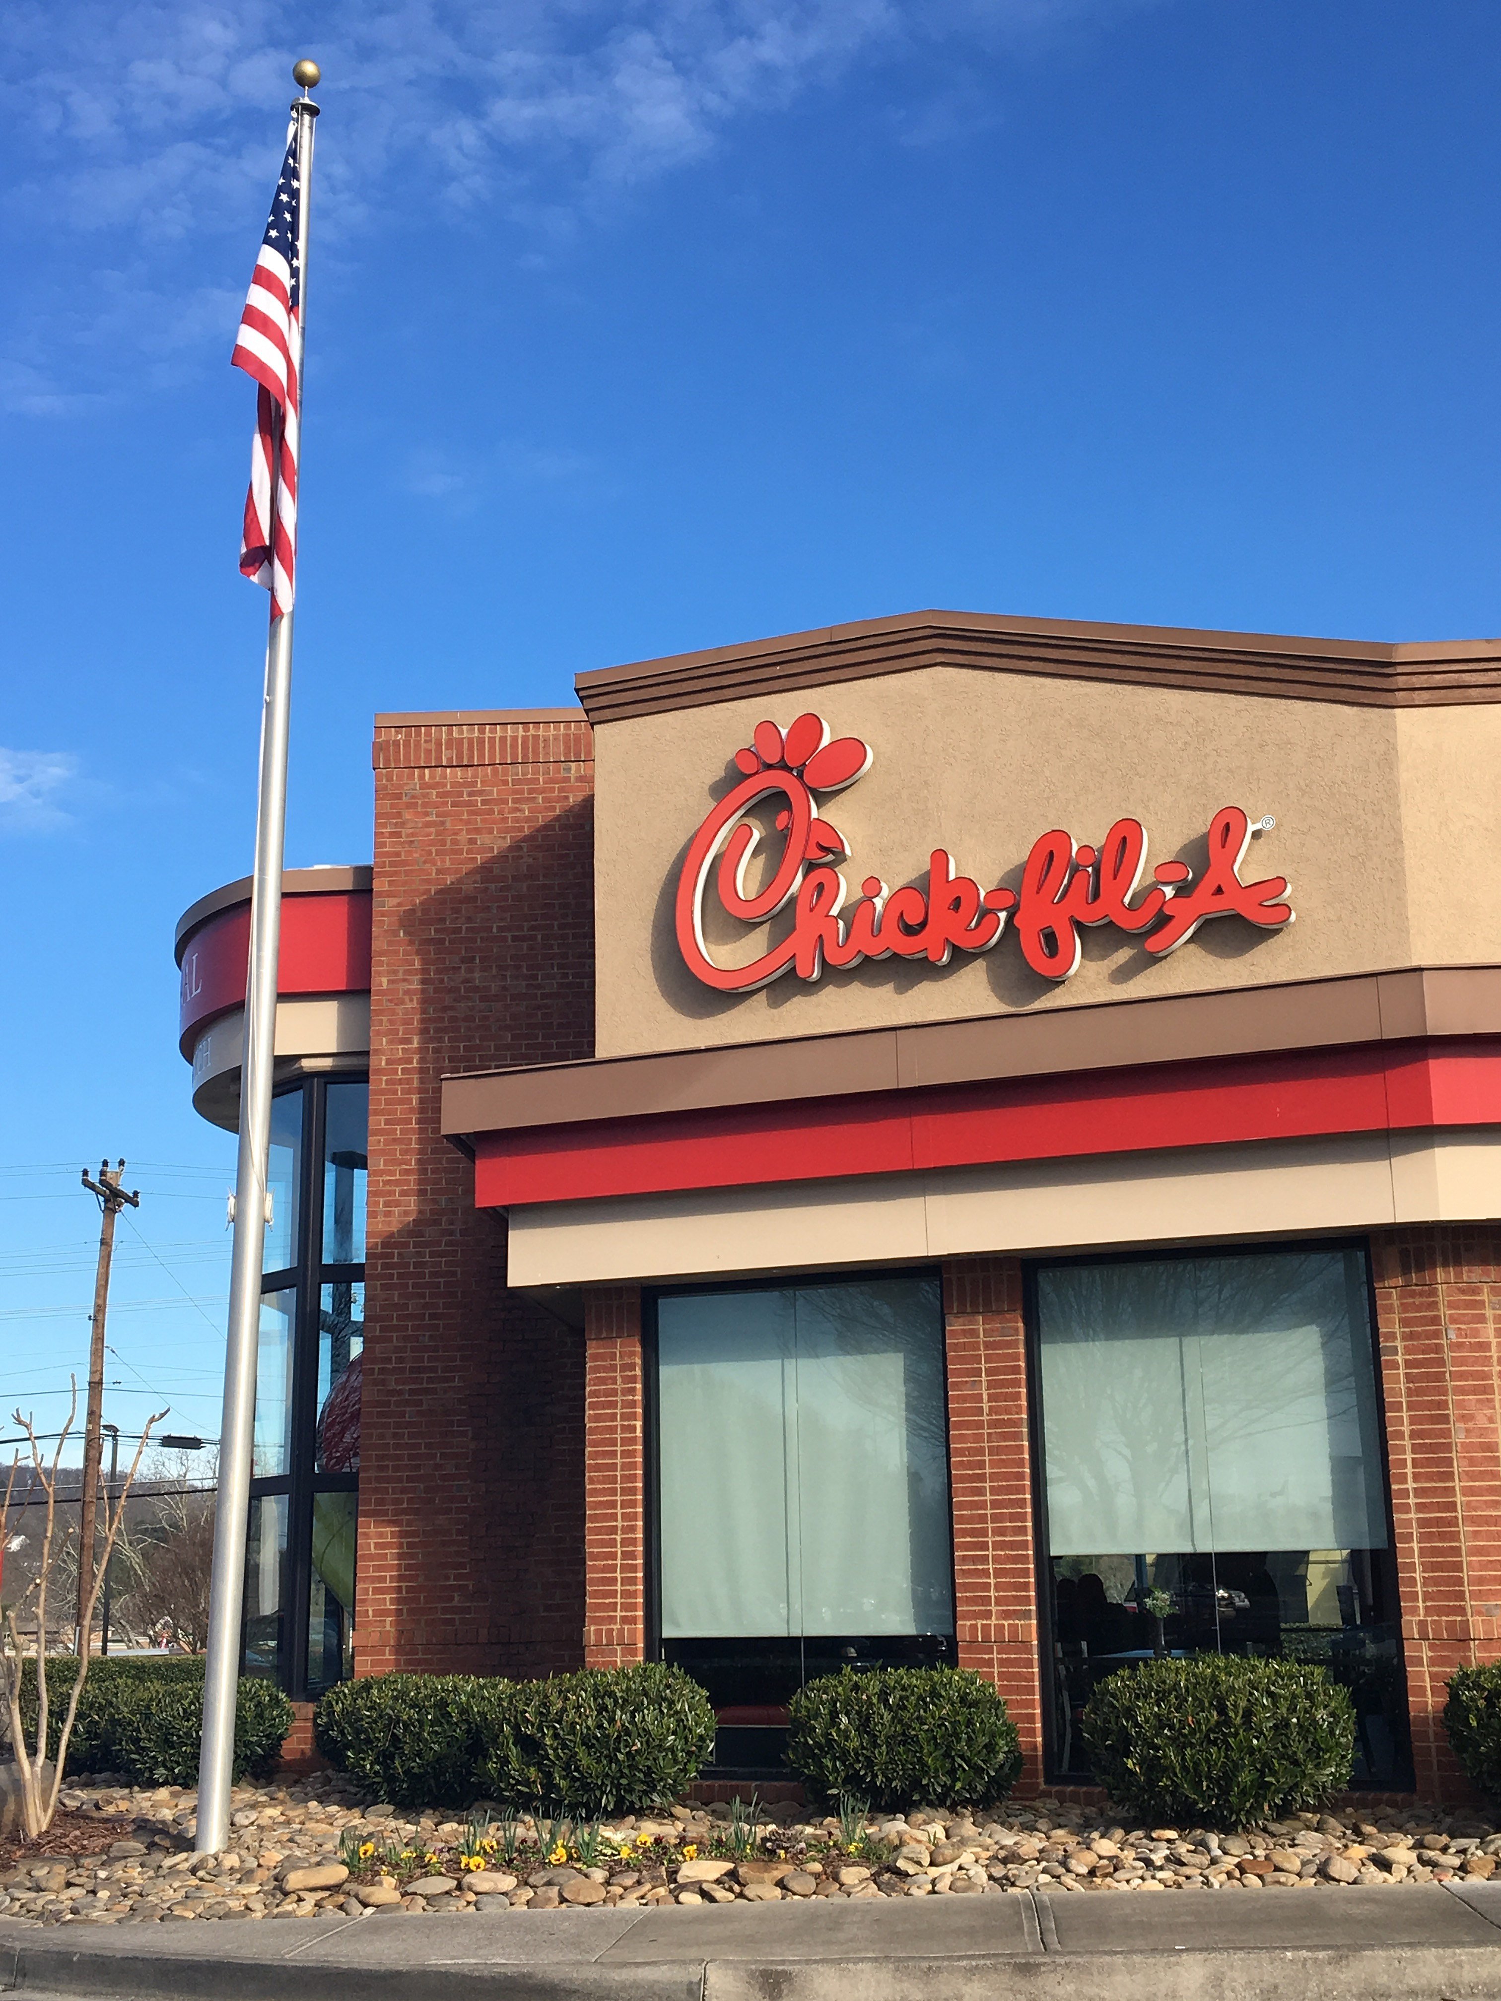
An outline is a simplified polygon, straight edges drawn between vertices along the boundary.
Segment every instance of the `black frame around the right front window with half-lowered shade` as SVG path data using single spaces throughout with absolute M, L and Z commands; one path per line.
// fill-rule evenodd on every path
M 1079 1267 L 1079 1265 L 1163 1265 L 1163 1263 L 1185 1263 L 1189 1259 L 1219 1259 L 1219 1257 L 1269 1257 L 1281 1253 L 1301 1253 L 1301 1251 L 1331 1251 L 1345 1253 L 1355 1251 L 1361 1257 L 1361 1267 L 1365 1271 L 1365 1313 L 1367 1331 L 1371 1337 L 1371 1373 L 1375 1379 L 1375 1401 L 1377 1401 L 1377 1429 L 1379 1429 L 1379 1451 L 1381 1451 L 1381 1497 L 1387 1517 L 1387 1547 L 1379 1551 L 1379 1573 L 1381 1573 L 1381 1607 L 1383 1625 L 1391 1625 L 1401 1635 L 1401 1595 L 1397 1577 L 1397 1523 L 1391 1505 L 1391 1455 L 1387 1445 L 1387 1399 L 1381 1381 L 1381 1327 L 1377 1321 L 1377 1297 L 1375 1297 L 1375 1275 L 1371 1259 L 1371 1239 L 1369 1237 L 1285 1237 L 1275 1241 L 1249 1241 L 1249 1243 L 1205 1243 L 1205 1245 L 1169 1245 L 1169 1247 L 1147 1247 L 1135 1251 L 1093 1251 L 1081 1257 L 1035 1257 L 1023 1259 L 1023 1329 L 1027 1347 L 1027 1447 L 1033 1463 L 1033 1555 L 1035 1555 L 1035 1579 L 1033 1589 L 1037 1593 L 1037 1675 L 1043 1695 L 1043 1775 L 1049 1785 L 1091 1785 L 1089 1773 L 1063 1771 L 1059 1759 L 1059 1723 L 1057 1723 L 1057 1689 L 1053 1679 L 1053 1555 L 1049 1539 L 1049 1519 L 1047 1519 L 1047 1457 L 1045 1457 L 1045 1429 L 1043 1429 L 1043 1331 L 1041 1317 L 1037 1309 L 1037 1275 L 1041 1271 L 1055 1271 L 1059 1267 Z M 1397 1665 L 1403 1683 L 1403 1701 L 1409 1705 L 1407 1693 L 1407 1659 L 1401 1651 Z M 1399 1765 L 1393 1779 L 1351 1779 L 1351 1791 L 1411 1791 L 1415 1785 L 1413 1775 L 1413 1747 L 1411 1729 L 1405 1747 L 1407 1763 Z

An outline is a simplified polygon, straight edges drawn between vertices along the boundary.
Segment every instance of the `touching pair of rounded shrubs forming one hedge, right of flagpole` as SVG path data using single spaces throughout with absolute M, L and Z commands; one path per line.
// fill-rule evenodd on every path
M 370 1675 L 330 1689 L 314 1727 L 332 1765 L 394 1805 L 582 1817 L 676 1799 L 714 1745 L 708 1697 L 660 1663 L 550 1681 Z

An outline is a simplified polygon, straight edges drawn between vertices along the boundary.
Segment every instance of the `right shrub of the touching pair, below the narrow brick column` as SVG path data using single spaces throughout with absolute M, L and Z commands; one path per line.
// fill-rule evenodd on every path
M 510 1805 L 598 1819 L 676 1799 L 712 1749 L 698 1683 L 642 1661 L 514 1685 L 480 1779 Z

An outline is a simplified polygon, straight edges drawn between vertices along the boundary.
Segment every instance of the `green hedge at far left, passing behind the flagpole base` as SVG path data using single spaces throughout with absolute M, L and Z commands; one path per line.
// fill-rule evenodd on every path
M 46 1749 L 58 1733 L 78 1679 L 72 1655 L 46 1663 Z M 36 1663 L 22 1667 L 22 1723 L 36 1743 Z M 70 1773 L 118 1771 L 134 1785 L 196 1785 L 204 1707 L 202 1655 L 160 1661 L 90 1661 L 68 1741 Z M 270 1681 L 246 1677 L 234 1705 L 234 1777 L 276 1761 L 292 1729 L 292 1705 Z

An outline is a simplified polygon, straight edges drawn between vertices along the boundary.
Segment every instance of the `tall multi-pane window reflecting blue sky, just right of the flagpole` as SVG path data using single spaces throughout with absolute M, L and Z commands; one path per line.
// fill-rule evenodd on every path
M 354 1667 L 368 1099 L 322 1077 L 272 1099 L 244 1667 L 294 1697 Z

